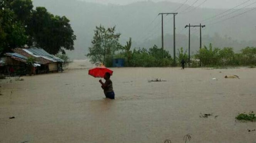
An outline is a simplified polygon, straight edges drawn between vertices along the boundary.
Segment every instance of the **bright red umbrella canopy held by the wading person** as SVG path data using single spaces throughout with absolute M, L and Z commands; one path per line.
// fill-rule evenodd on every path
M 113 71 L 109 68 L 106 68 L 105 66 L 92 68 L 89 70 L 88 74 L 95 77 L 95 78 L 103 78 L 105 73 L 110 73 L 110 75 L 113 74 Z

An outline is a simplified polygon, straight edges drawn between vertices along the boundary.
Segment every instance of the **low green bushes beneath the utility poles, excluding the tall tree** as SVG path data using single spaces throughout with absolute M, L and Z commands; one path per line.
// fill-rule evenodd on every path
M 170 67 L 177 66 L 182 59 L 188 63 L 187 51 L 181 47 L 177 57 L 176 65 L 173 65 L 173 59 L 168 51 L 158 48 L 156 45 L 149 48 L 139 48 L 130 51 L 129 48 L 112 57 L 106 57 L 106 66 L 112 66 L 112 59 L 125 59 L 125 67 Z M 227 67 L 227 66 L 250 66 L 254 68 L 256 65 L 256 47 L 246 47 L 239 53 L 235 53 L 233 48 L 209 47 L 199 49 L 197 54 L 191 56 L 190 67 Z

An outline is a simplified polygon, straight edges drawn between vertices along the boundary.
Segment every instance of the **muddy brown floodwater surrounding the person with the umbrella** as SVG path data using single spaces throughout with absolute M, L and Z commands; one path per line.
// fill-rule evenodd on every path
M 235 119 L 256 111 L 256 69 L 111 68 L 110 100 L 90 66 L 1 80 L 0 143 L 256 142 L 256 123 Z

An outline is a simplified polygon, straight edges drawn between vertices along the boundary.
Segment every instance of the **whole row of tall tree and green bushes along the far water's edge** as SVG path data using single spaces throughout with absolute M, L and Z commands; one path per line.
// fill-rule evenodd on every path
M 119 43 L 120 33 L 115 33 L 113 28 L 104 28 L 104 26 L 96 26 L 95 35 L 92 39 L 92 46 L 89 47 L 90 57 L 93 63 L 103 63 L 107 67 L 112 66 L 112 60 L 122 58 L 125 59 L 125 67 L 171 67 L 179 66 L 182 60 L 189 62 L 187 50 L 178 49 L 177 62 L 173 62 L 173 58 L 168 51 L 158 48 L 156 45 L 145 48 L 131 49 L 132 39 L 122 46 Z M 197 50 L 197 53 L 191 56 L 191 67 L 216 67 L 216 66 L 247 66 L 256 65 L 256 47 L 246 47 L 234 52 L 232 47 L 204 46 Z

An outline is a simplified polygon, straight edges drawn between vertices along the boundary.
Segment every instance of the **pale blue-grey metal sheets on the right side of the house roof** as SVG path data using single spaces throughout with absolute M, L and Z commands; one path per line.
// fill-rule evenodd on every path
M 51 60 L 53 62 L 64 62 L 64 60 L 58 58 L 58 57 L 55 57 L 54 55 L 51 55 L 49 53 L 47 53 L 44 49 L 40 49 L 40 48 L 29 48 L 29 49 L 26 49 L 28 50 L 29 52 L 31 52 L 33 55 L 37 55 L 37 56 L 40 56 L 40 57 L 43 57 L 47 60 Z

